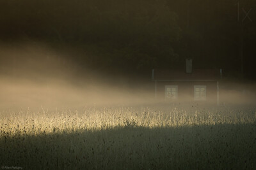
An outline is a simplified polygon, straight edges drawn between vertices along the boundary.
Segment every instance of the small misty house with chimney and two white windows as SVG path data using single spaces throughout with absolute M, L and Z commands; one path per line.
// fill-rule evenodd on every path
M 165 101 L 196 101 L 219 104 L 221 69 L 192 69 L 186 60 L 186 70 L 152 69 L 155 97 Z

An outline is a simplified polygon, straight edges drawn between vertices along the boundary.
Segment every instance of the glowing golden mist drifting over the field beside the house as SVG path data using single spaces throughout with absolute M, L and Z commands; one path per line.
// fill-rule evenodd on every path
M 74 108 L 92 105 L 145 104 L 154 98 L 150 72 L 138 78 L 81 67 L 76 52 L 40 43 L 1 45 L 1 109 Z M 96 70 L 96 71 L 93 71 Z M 224 80 L 221 104 L 255 104 L 255 83 Z M 179 99 L 187 104 L 186 96 Z

